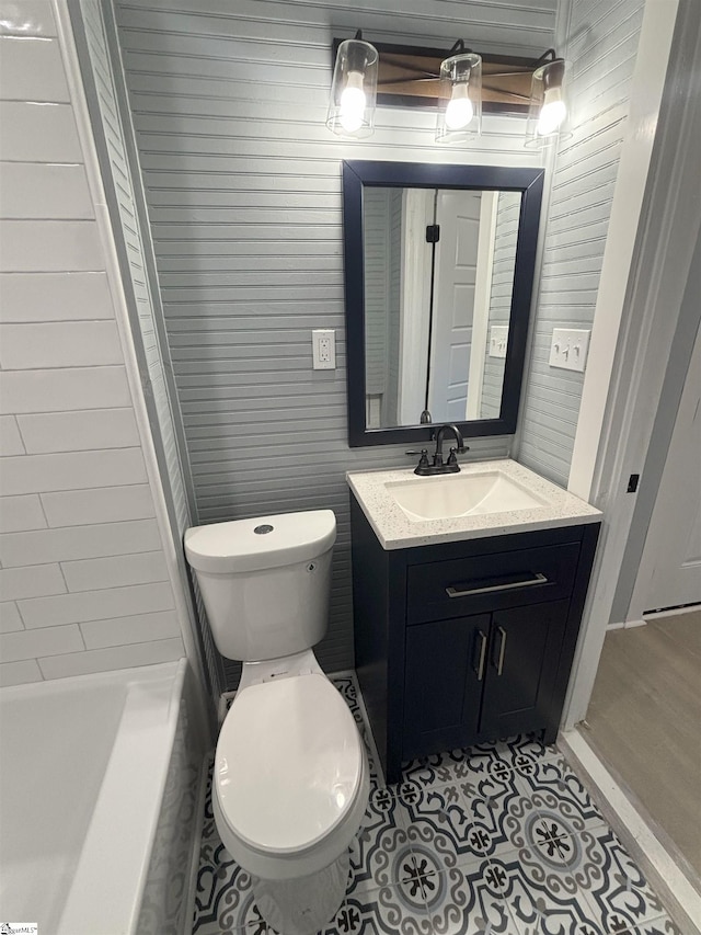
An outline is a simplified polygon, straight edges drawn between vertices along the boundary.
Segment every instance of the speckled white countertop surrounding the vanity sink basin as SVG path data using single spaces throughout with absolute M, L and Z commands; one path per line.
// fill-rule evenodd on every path
M 532 529 L 575 526 L 596 523 L 601 518 L 600 510 L 589 506 L 584 500 L 567 493 L 566 490 L 516 461 L 509 459 L 474 461 L 463 464 L 460 468 L 459 475 L 448 475 L 448 477 L 457 478 L 498 470 L 537 499 L 544 501 L 544 504 L 503 513 L 415 521 L 409 518 L 386 484 L 407 480 L 430 483 L 433 478 L 416 477 L 413 468 L 403 468 L 350 471 L 346 474 L 346 479 L 383 549 L 403 549 L 435 543 L 457 543 L 463 539 L 502 536 L 508 533 L 528 533 Z

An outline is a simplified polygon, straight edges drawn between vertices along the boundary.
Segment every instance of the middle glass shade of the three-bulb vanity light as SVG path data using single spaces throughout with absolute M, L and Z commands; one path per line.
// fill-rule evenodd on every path
M 440 64 L 438 142 L 466 142 L 482 133 L 482 59 L 472 52 Z

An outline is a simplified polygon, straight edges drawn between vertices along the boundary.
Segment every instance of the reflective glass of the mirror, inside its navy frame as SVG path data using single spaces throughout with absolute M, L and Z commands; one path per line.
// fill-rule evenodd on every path
M 521 193 L 363 199 L 366 427 L 498 419 Z

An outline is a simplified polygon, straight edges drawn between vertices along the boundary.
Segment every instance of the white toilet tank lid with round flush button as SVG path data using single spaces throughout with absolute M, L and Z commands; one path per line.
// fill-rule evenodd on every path
M 193 526 L 185 533 L 185 555 L 196 571 L 260 571 L 311 561 L 327 551 L 335 539 L 333 510 L 277 513 Z

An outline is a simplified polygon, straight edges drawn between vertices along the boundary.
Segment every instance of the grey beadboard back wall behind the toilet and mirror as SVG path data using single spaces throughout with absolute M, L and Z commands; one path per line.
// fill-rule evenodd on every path
M 345 471 L 406 463 L 346 443 L 341 160 L 538 166 L 522 122 L 469 149 L 429 114 L 383 110 L 369 141 L 324 126 L 334 36 L 538 56 L 555 0 L 115 0 L 163 308 L 203 521 L 332 508 L 326 669 L 353 662 Z M 337 369 L 311 368 L 311 329 Z M 471 445 L 499 455 L 507 440 Z

